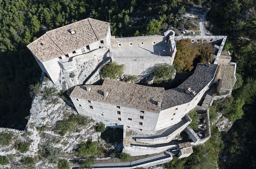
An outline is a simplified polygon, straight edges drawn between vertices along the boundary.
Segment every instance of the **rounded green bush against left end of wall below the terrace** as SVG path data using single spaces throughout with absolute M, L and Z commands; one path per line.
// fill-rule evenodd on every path
M 116 62 L 109 62 L 103 66 L 100 71 L 101 77 L 116 79 L 123 75 L 124 65 L 118 65 Z

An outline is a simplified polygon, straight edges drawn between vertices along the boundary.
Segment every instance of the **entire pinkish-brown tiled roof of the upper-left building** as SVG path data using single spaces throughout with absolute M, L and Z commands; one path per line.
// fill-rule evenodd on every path
M 92 44 L 107 36 L 109 23 L 87 18 L 57 29 L 46 32 L 44 42 L 40 45 L 38 38 L 28 45 L 28 48 L 35 54 L 40 62 L 63 56 L 72 51 Z M 71 34 L 70 29 L 74 30 Z

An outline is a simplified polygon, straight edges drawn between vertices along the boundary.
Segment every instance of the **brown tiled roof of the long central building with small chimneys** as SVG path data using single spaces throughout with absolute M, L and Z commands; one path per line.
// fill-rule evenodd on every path
M 91 90 L 87 91 L 86 87 Z M 103 92 L 108 92 L 108 96 L 104 97 Z M 105 79 L 102 86 L 76 86 L 70 97 L 160 113 L 161 107 L 157 102 L 163 101 L 164 88 Z

